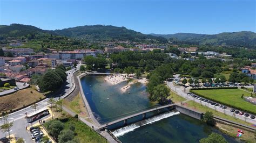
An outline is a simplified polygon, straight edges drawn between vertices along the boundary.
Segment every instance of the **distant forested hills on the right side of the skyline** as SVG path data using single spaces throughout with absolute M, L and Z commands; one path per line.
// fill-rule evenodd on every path
M 250 31 L 224 32 L 219 34 L 150 34 L 169 39 L 174 44 L 226 45 L 256 48 L 256 33 Z

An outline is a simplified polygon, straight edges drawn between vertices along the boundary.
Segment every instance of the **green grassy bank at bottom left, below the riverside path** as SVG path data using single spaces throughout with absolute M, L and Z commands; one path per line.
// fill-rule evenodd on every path
M 64 123 L 64 129 L 69 129 L 70 124 L 75 126 L 75 139 L 77 138 L 80 142 L 106 142 L 105 138 L 101 137 L 97 132 L 93 131 L 89 126 L 76 118 L 70 117 L 59 120 Z M 51 121 L 44 124 L 46 129 L 49 127 Z

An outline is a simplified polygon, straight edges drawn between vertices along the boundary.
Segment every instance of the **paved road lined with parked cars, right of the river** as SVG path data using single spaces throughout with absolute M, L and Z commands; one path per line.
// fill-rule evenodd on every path
M 184 97 L 186 99 L 190 99 L 191 101 L 195 101 L 197 103 L 200 103 L 199 99 L 193 98 L 192 96 L 187 96 L 187 92 L 189 91 L 189 88 L 186 88 L 186 92 L 184 92 L 184 87 L 175 86 L 175 85 L 173 85 L 172 82 L 167 82 L 167 85 L 173 91 L 176 91 L 178 95 L 180 95 L 180 96 L 182 96 L 182 97 Z M 208 104 L 208 103 L 205 103 L 205 102 L 201 102 L 201 103 L 202 103 L 202 105 L 206 105 L 207 107 L 212 108 L 212 109 L 216 108 L 217 111 L 224 113 L 224 109 L 221 109 L 219 107 L 216 107 L 214 105 L 211 105 L 211 104 Z M 225 109 L 226 115 L 230 115 L 230 116 L 233 115 L 233 112 L 231 112 L 230 110 L 231 110 L 231 108 Z M 245 116 L 240 116 L 240 115 L 235 115 L 235 117 L 239 118 L 241 120 L 245 120 L 246 119 L 246 121 L 248 123 L 256 124 L 256 119 L 251 119 L 250 117 L 245 117 Z

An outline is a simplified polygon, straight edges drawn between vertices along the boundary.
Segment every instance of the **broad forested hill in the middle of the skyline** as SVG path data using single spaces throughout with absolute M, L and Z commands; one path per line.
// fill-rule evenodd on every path
M 163 37 L 156 37 L 153 35 L 146 35 L 133 30 L 128 30 L 125 27 L 116 26 L 77 26 L 72 28 L 65 28 L 63 30 L 52 31 L 58 35 L 65 35 L 68 37 L 83 38 L 89 40 L 131 40 L 131 41 L 159 41 L 166 43 L 167 40 Z

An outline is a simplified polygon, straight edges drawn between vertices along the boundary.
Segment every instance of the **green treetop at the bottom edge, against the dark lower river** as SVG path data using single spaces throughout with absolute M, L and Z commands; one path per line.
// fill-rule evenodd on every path
M 211 133 L 207 138 L 200 139 L 200 143 L 227 143 L 225 138 L 218 133 Z

